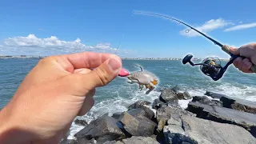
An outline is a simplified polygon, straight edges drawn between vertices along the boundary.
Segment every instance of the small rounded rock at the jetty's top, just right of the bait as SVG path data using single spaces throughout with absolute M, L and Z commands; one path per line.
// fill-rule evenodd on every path
M 178 103 L 178 96 L 171 89 L 164 89 L 160 94 L 159 100 L 165 103 Z

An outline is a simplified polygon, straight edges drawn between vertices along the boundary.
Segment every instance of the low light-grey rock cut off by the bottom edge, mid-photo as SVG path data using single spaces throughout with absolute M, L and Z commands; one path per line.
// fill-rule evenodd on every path
M 151 137 L 135 137 L 132 136 L 131 138 L 123 139 L 122 142 L 124 144 L 159 144 L 158 141 L 156 141 L 154 138 Z

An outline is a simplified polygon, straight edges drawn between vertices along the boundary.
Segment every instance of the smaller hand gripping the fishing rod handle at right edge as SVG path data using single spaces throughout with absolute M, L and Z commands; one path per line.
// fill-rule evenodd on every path
M 250 67 L 256 65 L 256 43 L 241 46 L 240 48 L 230 48 L 230 53 L 246 57 L 242 59 L 238 57 L 234 60 L 233 64 L 236 68 L 244 73 L 252 73 Z

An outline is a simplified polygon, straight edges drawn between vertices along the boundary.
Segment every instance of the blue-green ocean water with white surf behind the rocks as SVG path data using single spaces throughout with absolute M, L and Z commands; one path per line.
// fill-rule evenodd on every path
M 0 110 L 10 101 L 26 74 L 37 64 L 38 59 L 0 59 Z M 229 67 L 223 78 L 214 82 L 205 76 L 199 67 L 182 65 L 181 61 L 154 61 L 154 60 L 124 60 L 122 65 L 130 72 L 137 71 L 138 64 L 158 76 L 158 86 L 179 86 L 183 91 L 188 91 L 192 96 L 203 95 L 206 90 L 226 94 L 230 97 L 247 99 L 256 102 L 256 74 L 243 74 L 233 65 Z M 225 65 L 226 62 L 222 62 Z M 98 118 L 102 114 L 114 114 L 127 110 L 133 102 L 146 100 L 153 102 L 158 98 L 159 92 L 152 91 L 145 94 L 146 90 L 138 90 L 138 85 L 130 85 L 126 78 L 115 78 L 109 85 L 100 87 L 94 95 L 95 104 L 90 112 L 79 119 L 87 122 Z M 189 101 L 180 101 L 186 107 Z M 72 124 L 70 137 L 83 126 Z

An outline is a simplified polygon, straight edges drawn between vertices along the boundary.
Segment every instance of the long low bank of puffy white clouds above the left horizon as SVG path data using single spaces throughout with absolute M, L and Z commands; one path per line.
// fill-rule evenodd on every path
M 37 38 L 34 34 L 27 37 L 6 38 L 0 50 L 11 54 L 62 54 L 75 53 L 81 51 L 95 51 L 104 53 L 115 53 L 116 48 L 112 48 L 110 43 L 98 43 L 95 46 L 86 46 L 79 38 L 74 41 L 63 41 L 55 36 L 50 38 Z M 125 53 L 125 50 L 118 50 L 118 54 Z

